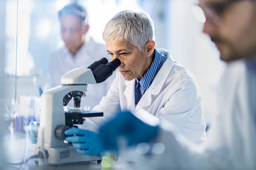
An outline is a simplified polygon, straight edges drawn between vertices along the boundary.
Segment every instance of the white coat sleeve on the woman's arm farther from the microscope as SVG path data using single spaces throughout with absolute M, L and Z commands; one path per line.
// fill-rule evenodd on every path
M 202 115 L 201 95 L 195 82 L 186 80 L 169 96 L 156 116 L 176 125 L 188 140 L 195 143 L 204 141 L 206 125 Z

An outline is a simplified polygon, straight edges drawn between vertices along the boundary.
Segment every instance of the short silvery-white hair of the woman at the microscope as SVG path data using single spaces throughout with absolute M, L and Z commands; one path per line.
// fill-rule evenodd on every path
M 148 40 L 155 40 L 154 31 L 154 22 L 147 13 L 124 10 L 108 21 L 102 37 L 104 41 L 130 42 L 143 52 Z

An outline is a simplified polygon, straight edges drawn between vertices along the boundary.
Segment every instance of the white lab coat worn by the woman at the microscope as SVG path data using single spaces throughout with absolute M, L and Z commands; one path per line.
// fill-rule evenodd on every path
M 159 52 L 168 56 L 167 60 L 136 106 L 135 79 L 126 81 L 118 71 L 108 94 L 93 109 L 103 111 L 104 118 L 87 118 L 82 128 L 95 131 L 92 126 L 99 128 L 120 110 L 143 109 L 177 125 L 187 139 L 195 143 L 205 140 L 201 94 L 195 79 L 185 67 L 174 61 L 168 51 L 159 49 Z

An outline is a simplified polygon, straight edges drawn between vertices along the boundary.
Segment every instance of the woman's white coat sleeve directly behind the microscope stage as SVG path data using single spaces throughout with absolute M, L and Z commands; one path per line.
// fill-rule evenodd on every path
M 119 99 L 119 77 L 116 76 L 113 83 L 108 90 L 105 97 L 102 97 L 99 105 L 96 105 L 92 110 L 103 112 L 103 117 L 88 117 L 86 122 L 81 126 L 83 129 L 92 130 L 97 132 L 104 122 L 110 120 L 120 111 L 120 99 Z

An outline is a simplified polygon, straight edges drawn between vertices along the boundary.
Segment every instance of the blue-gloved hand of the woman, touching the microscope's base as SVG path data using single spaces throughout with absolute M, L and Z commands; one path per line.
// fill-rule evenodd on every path
M 72 143 L 78 153 L 97 156 L 102 153 L 102 142 L 97 133 L 72 127 L 66 130 L 65 134 L 68 135 L 65 140 Z

